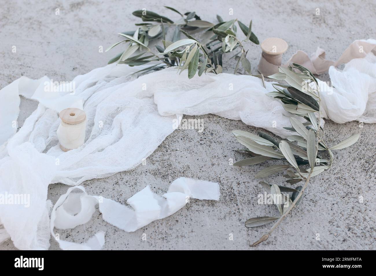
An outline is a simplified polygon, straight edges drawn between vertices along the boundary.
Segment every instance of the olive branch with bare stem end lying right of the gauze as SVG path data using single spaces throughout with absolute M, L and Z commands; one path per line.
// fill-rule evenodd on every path
M 295 72 L 293 69 L 299 72 Z M 284 164 L 272 165 L 259 171 L 255 178 L 263 178 L 282 170 L 287 170 L 284 175 L 287 183 L 296 184 L 304 181 L 303 186 L 296 189 L 270 185 L 264 181 L 259 182 L 264 189 L 273 195 L 273 203 L 276 204 L 280 217 L 253 217 L 246 221 L 247 227 L 256 227 L 274 222 L 270 230 L 258 241 L 252 244 L 256 246 L 268 239 L 274 229 L 285 219 L 288 213 L 296 206 L 308 186 L 309 180 L 329 169 L 333 165 L 333 150 L 343 149 L 358 141 L 360 134 L 355 134 L 335 146 L 327 146 L 324 140 L 325 132 L 321 127 L 321 98 L 320 86 L 314 75 L 305 67 L 293 63 L 289 68 L 279 67 L 279 72 L 269 76 L 276 80 L 284 80 L 288 85 L 274 83 L 276 91 L 267 95 L 277 98 L 284 103 L 284 109 L 293 115 L 300 116 L 306 122 L 291 117 L 291 127 L 284 127 L 287 130 L 296 132 L 288 136 L 287 140 L 277 142 L 266 133 L 259 132 L 258 135 L 235 130 L 235 135 L 246 149 L 242 151 L 253 155 L 251 158 L 234 163 L 234 166 L 247 166 L 259 164 L 267 160 L 279 160 Z M 293 143 L 293 142 L 296 142 Z M 319 154 L 320 152 L 320 154 Z M 323 158 L 321 152 L 326 153 L 328 158 Z M 304 169 L 303 166 L 309 166 Z M 281 204 L 281 192 L 291 193 L 291 198 L 285 204 Z

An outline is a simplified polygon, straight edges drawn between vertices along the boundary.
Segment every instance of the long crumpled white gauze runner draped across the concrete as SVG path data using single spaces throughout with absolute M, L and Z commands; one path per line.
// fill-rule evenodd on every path
M 375 66 L 370 57 L 354 60 L 343 73 L 336 72 L 340 89 L 333 89 L 333 94 L 323 98 L 326 118 L 352 121 L 363 114 L 364 106 L 367 114 L 374 114 L 373 104 L 367 104 L 366 99 L 374 99 Z M 50 183 L 76 186 L 88 179 L 133 169 L 173 132 L 174 119 L 181 119 L 182 114 L 212 113 L 241 119 L 281 137 L 290 134 L 283 128 L 290 125 L 290 113 L 285 112 L 279 100 L 264 95 L 274 90 L 270 82 L 266 82 L 264 89 L 259 78 L 225 73 L 196 75 L 189 80 L 186 71 L 179 75 L 175 68 L 139 78 L 128 77 L 139 69 L 114 64 L 94 69 L 74 78 L 74 95 L 50 97 L 43 93 L 41 81 L 24 77 L 10 84 L 11 88 L 0 90 L 1 97 L 9 99 L 0 101 L 0 110 L 7 107 L 9 111 L 6 116 L 1 113 L 0 118 L 1 125 L 8 126 L 2 136 L 6 142 L 0 146 L 0 193 L 28 193 L 32 202 L 27 210 L 17 205 L 0 205 L 0 220 L 6 229 L 3 237 L 9 234 L 17 248 L 49 247 L 45 214 L 50 210 Z M 356 78 L 341 77 L 350 70 L 359 72 Z M 362 90 L 349 91 L 349 83 L 350 87 L 361 86 Z M 27 90 L 28 87 L 35 90 Z M 7 124 L 17 119 L 20 93 L 38 100 L 39 105 L 14 134 L 15 130 Z M 60 101 L 63 97 L 64 101 Z M 86 142 L 62 152 L 56 137 L 60 123 L 57 112 L 70 104 L 77 107 L 80 99 L 87 116 Z M 375 116 L 367 120 L 374 122 Z

